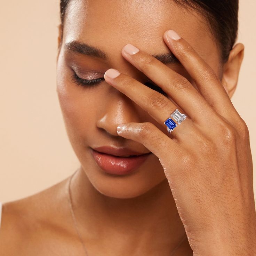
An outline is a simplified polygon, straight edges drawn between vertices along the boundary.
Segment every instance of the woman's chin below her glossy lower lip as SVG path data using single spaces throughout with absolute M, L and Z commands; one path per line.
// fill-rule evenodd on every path
M 80 161 L 81 162 L 81 161 Z M 81 162 L 90 184 L 102 195 L 112 198 L 135 198 L 168 180 L 159 159 L 152 155 L 149 161 L 127 175 L 113 175 L 102 170 L 93 158 Z

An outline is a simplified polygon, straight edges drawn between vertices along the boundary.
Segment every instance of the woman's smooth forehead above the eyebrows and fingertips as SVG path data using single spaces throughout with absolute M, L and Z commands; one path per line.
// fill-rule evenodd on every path
M 173 29 L 210 65 L 218 62 L 217 46 L 205 19 L 171 0 L 70 0 L 63 31 L 64 43 L 85 42 L 122 58 L 127 43 L 149 54 L 169 52 L 162 39 Z

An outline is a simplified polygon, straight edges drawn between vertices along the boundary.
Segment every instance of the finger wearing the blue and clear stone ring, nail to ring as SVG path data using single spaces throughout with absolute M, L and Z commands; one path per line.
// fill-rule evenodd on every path
M 167 127 L 165 121 L 170 117 L 170 114 L 177 109 L 177 106 L 166 96 L 115 69 L 107 70 L 104 74 L 104 79 L 107 83 L 117 88 L 137 105 L 142 107 L 142 109 L 149 113 L 158 123 Z M 189 117 L 186 117 L 186 119 L 189 119 Z M 172 120 L 174 121 L 175 119 L 172 118 Z M 187 120 L 184 120 L 184 122 L 187 122 Z M 175 123 L 177 124 L 177 121 Z M 191 123 L 192 120 L 190 125 Z M 188 128 L 189 127 L 187 127 L 187 129 Z

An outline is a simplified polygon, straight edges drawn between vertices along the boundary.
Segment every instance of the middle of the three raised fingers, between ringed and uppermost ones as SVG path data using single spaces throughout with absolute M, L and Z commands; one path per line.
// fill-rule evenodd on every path
M 136 50 L 136 47 L 131 44 L 123 47 L 122 55 L 170 95 L 193 121 L 197 123 L 202 123 L 202 120 L 207 122 L 213 119 L 213 115 L 216 115 L 206 99 L 185 77 L 158 59 L 138 48 Z

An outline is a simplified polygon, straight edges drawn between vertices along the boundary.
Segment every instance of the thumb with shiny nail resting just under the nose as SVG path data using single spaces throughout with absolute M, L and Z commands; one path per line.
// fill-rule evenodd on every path
M 151 122 L 136 123 L 130 122 L 117 127 L 118 135 L 143 144 L 149 149 L 159 160 L 172 160 L 172 164 L 182 158 L 183 147 L 170 139 L 166 134 L 159 130 Z M 167 156 L 168 154 L 168 156 Z M 164 162 L 161 162 L 164 164 Z

